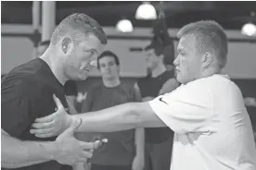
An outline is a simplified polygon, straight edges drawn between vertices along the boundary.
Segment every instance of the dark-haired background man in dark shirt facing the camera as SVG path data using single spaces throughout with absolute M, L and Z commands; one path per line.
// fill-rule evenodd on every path
M 102 82 L 87 92 L 82 112 L 105 109 L 129 102 L 140 102 L 134 86 L 120 79 L 120 61 L 117 55 L 105 51 L 97 58 Z M 144 166 L 144 129 L 135 128 L 110 133 L 77 133 L 78 140 L 108 139 L 90 159 L 91 170 L 142 170 Z M 86 167 L 86 164 L 85 164 Z M 83 165 L 80 169 L 86 169 Z M 88 166 L 87 166 L 88 167 Z

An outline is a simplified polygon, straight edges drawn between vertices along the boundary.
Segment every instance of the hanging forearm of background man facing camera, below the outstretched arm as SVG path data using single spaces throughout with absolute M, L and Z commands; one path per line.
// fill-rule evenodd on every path
M 144 149 L 145 149 L 145 130 L 144 128 L 136 128 L 135 129 L 135 147 L 136 147 L 136 155 L 140 155 L 144 157 Z

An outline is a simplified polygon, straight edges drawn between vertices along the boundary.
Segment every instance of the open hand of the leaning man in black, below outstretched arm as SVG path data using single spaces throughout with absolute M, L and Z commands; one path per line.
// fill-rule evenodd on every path
M 54 160 L 59 164 L 77 164 L 79 162 L 86 162 L 87 158 L 93 156 L 94 150 L 102 145 L 102 142 L 96 140 L 95 142 L 83 142 L 76 140 L 73 133 L 82 124 L 82 119 L 72 123 L 70 128 L 66 129 L 57 140 L 54 141 L 55 154 Z

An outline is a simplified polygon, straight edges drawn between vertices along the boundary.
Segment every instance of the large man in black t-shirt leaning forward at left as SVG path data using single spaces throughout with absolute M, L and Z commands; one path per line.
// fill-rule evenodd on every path
M 92 156 L 101 142 L 87 143 L 73 137 L 81 119 L 58 138 L 34 136 L 30 128 L 36 118 L 57 109 L 53 94 L 68 109 L 65 82 L 86 79 L 106 43 L 106 35 L 96 20 L 72 14 L 60 22 L 44 55 L 6 74 L 1 81 L 2 169 L 58 170 L 60 164 L 75 164 Z M 44 140 L 38 138 L 42 136 Z

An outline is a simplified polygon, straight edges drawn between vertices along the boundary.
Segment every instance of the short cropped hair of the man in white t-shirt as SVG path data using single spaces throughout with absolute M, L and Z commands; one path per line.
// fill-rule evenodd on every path
M 184 26 L 178 31 L 178 39 L 193 35 L 197 52 L 211 52 L 217 58 L 218 66 L 224 68 L 227 62 L 228 39 L 222 26 L 214 20 L 200 20 Z

